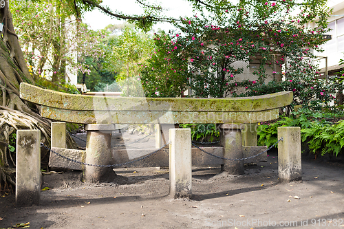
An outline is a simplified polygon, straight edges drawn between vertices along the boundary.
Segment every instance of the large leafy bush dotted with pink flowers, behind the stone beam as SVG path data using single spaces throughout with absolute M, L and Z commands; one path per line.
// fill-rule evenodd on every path
M 290 12 L 297 8 L 301 11 L 292 16 Z M 319 79 L 312 54 L 325 42 L 322 35 L 328 31 L 325 18 L 330 11 L 325 1 L 241 1 L 238 5 L 221 1 L 200 3 L 195 10 L 199 15 L 175 23 L 176 32 L 163 39 L 157 36 L 160 47 L 147 65 L 147 75 L 153 71 L 164 74 L 169 61 L 169 67 L 171 63 L 184 69 L 189 65 L 189 85 L 197 97 L 256 96 L 290 90 L 294 91 L 294 104 L 319 107 L 333 99 L 334 84 Z M 320 18 L 316 21 L 320 29 L 306 28 L 305 23 L 316 17 Z M 249 67 L 253 58 L 259 61 L 252 71 L 255 78 L 240 80 L 238 76 L 246 67 L 235 67 L 235 63 L 241 61 Z M 170 70 L 178 69 L 178 65 Z M 276 71 L 275 65 L 281 70 Z M 185 80 L 186 75 L 183 72 L 173 79 Z M 268 83 L 268 77 L 277 80 Z M 147 94 L 155 94 L 162 90 L 164 80 L 152 74 L 142 83 Z M 171 87 L 164 86 L 166 91 Z

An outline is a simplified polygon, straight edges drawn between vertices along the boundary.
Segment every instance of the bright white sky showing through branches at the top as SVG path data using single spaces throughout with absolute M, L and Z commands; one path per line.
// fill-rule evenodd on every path
M 143 12 L 140 4 L 135 0 L 104 0 L 101 5 L 109 6 L 111 10 L 118 10 L 119 12 L 124 12 L 125 14 L 141 14 Z M 185 0 L 162 0 L 162 8 L 168 9 L 168 11 L 164 12 L 164 14 L 168 17 L 191 17 L 193 15 L 189 2 Z M 100 10 L 93 10 L 92 12 L 87 12 L 85 14 L 83 22 L 88 24 L 92 30 L 101 30 L 109 24 L 120 24 L 124 21 L 111 19 L 111 17 L 103 14 L 100 12 Z M 168 31 L 172 29 L 172 26 L 169 23 L 158 23 L 158 25 L 154 26 L 153 30 L 156 31 L 158 28 Z

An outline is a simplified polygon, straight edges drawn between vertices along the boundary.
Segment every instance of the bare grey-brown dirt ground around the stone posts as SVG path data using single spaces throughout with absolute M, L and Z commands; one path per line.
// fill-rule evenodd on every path
M 165 169 L 115 169 L 116 184 L 97 185 L 79 172 L 45 175 L 40 206 L 0 197 L 0 228 L 344 228 L 343 163 L 303 160 L 303 182 L 279 184 L 277 152 L 268 154 L 240 176 L 193 168 L 192 200 L 169 197 Z

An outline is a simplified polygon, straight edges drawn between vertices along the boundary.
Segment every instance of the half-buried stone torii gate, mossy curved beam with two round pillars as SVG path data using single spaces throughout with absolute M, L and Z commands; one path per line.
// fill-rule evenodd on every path
M 85 162 L 90 164 L 113 164 L 110 141 L 114 124 L 216 123 L 223 157 L 242 158 L 241 124 L 275 120 L 279 108 L 292 102 L 292 91 L 241 98 L 111 98 L 65 94 L 26 83 L 21 83 L 20 94 L 24 100 L 41 105 L 44 118 L 85 124 Z M 191 148 L 191 136 L 180 138 L 178 133 L 184 134 L 170 130 L 170 140 L 188 140 Z M 178 154 L 178 149 L 170 146 L 170 167 L 173 150 Z M 188 160 L 191 168 L 191 158 Z M 243 162 L 224 160 L 224 171 L 240 174 L 244 171 Z M 99 182 L 111 173 L 111 168 L 85 166 L 88 182 Z

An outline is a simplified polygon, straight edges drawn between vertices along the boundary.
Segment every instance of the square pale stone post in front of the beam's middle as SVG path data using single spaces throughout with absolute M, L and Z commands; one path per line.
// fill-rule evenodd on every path
M 170 129 L 169 138 L 170 195 L 191 197 L 191 129 Z

